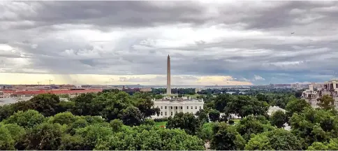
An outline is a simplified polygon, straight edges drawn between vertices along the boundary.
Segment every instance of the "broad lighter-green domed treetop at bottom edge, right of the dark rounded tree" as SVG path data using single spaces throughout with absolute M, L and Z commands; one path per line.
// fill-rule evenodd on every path
M 245 145 L 245 150 L 301 150 L 301 142 L 284 129 L 257 134 Z

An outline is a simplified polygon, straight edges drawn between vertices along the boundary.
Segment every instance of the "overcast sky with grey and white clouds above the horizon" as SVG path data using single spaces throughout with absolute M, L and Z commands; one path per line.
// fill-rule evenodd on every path
M 176 85 L 338 73 L 338 1 L 0 3 L 2 84 L 165 85 L 168 55 Z

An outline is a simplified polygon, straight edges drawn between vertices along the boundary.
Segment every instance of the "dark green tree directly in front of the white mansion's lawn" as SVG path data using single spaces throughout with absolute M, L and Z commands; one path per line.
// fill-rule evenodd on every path
M 195 135 L 200 127 L 200 122 L 193 113 L 176 113 L 174 117 L 168 117 L 166 127 L 168 129 L 184 129 L 187 134 Z

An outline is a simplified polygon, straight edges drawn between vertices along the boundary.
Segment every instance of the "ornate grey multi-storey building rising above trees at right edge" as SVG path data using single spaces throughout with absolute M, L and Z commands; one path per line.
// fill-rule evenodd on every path
M 302 99 L 305 99 L 313 108 L 318 108 L 318 99 L 323 95 L 332 96 L 335 99 L 334 105 L 338 109 L 338 80 L 330 80 L 323 84 L 323 87 L 314 91 L 314 86 L 309 85 L 309 89 L 302 92 Z

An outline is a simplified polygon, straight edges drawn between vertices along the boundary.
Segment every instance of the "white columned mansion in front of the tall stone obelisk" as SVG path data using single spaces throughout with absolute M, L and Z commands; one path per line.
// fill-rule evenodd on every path
M 193 113 L 203 109 L 203 99 L 196 100 L 191 97 L 165 97 L 159 100 L 153 100 L 154 107 L 160 109 L 159 115 L 153 115 L 152 119 L 175 116 L 177 113 Z

